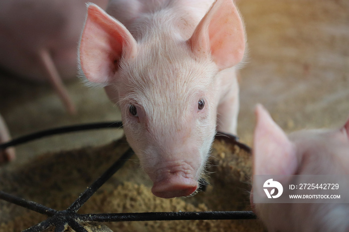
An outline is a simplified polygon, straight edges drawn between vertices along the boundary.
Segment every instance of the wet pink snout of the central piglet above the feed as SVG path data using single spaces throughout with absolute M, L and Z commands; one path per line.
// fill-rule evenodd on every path
M 189 196 L 197 189 L 195 171 L 188 164 L 159 169 L 152 192 L 161 198 Z

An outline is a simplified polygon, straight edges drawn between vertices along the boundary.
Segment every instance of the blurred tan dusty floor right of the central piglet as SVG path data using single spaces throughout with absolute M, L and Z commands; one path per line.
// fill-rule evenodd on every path
M 249 63 L 238 134 L 250 143 L 262 103 L 286 131 L 332 127 L 349 116 L 349 1 L 241 0 Z

